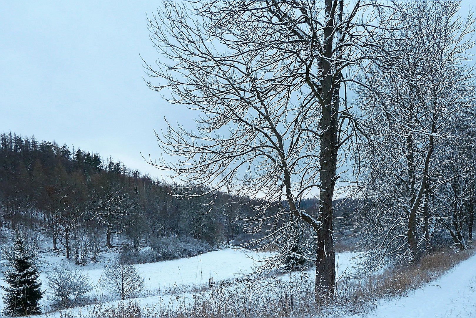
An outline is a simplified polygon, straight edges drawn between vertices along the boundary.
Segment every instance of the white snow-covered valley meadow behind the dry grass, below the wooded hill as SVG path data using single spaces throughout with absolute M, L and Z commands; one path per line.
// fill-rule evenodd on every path
M 41 270 L 40 279 L 42 288 L 47 289 L 47 275 L 49 269 L 55 265 L 62 265 L 70 268 L 80 268 L 88 274 L 89 282 L 95 286 L 92 292 L 93 297 L 97 297 L 101 302 L 116 302 L 117 297 L 107 293 L 103 288 L 103 273 L 109 261 L 117 255 L 116 253 L 103 254 L 99 262 L 91 262 L 86 266 L 78 266 L 74 261 L 67 259 L 64 255 L 53 256 L 51 252 L 41 253 L 39 267 Z M 253 273 L 262 264 L 265 257 L 270 253 L 257 253 L 245 249 L 224 248 L 190 258 L 181 258 L 157 263 L 137 264 L 142 273 L 146 291 L 137 299 L 143 306 L 175 306 L 180 302 L 193 301 L 192 292 L 196 289 L 207 287 L 208 279 L 213 278 L 215 283 L 223 280 L 230 280 L 235 277 Z M 337 255 L 338 275 L 348 273 L 355 267 L 352 258 L 354 253 L 342 253 Z M 313 270 L 309 274 L 313 275 Z M 3 278 L 3 277 L 0 277 Z M 0 285 L 5 285 L 3 280 Z M 0 296 L 4 291 L 0 290 Z M 44 311 L 49 311 L 50 299 L 48 293 L 42 300 Z M 2 298 L 2 297 L 0 297 Z M 178 300 L 179 299 L 179 300 Z M 0 308 L 3 302 L 0 299 Z M 84 308 L 86 309 L 86 308 Z M 52 313 L 54 316 L 55 314 Z

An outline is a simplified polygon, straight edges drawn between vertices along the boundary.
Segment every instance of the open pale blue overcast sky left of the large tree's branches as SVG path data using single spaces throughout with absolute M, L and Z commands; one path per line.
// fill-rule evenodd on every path
M 1 1 L 0 132 L 111 155 L 161 176 L 141 157 L 160 155 L 153 130 L 179 121 L 193 126 L 186 108 L 171 106 L 147 88 L 139 54 L 152 48 L 146 12 L 160 1 Z M 469 1 L 463 0 L 463 12 Z

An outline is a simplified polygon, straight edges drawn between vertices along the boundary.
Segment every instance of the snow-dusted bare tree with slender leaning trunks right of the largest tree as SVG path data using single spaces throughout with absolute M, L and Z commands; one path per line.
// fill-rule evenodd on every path
M 383 35 L 393 40 L 365 73 L 366 138 L 354 157 L 357 187 L 371 210 L 364 219 L 371 222 L 364 226 L 367 236 L 379 240 L 381 256 L 410 261 L 421 243 L 431 248 L 436 207 L 430 199 L 452 179 L 441 160 L 458 140 L 455 117 L 468 120 L 465 112 L 475 102 L 474 70 L 465 62 L 474 18 L 457 15 L 458 1 L 412 3 L 396 15 L 396 27 Z

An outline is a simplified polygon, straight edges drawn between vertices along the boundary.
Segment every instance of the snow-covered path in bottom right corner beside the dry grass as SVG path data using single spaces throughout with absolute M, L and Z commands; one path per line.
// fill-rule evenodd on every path
M 381 300 L 366 318 L 470 318 L 476 317 L 476 256 L 445 276 L 409 292 L 407 297 Z M 349 318 L 360 316 L 349 316 Z

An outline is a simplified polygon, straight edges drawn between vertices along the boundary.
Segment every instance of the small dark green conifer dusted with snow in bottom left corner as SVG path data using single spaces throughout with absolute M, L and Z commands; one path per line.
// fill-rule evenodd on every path
M 2 286 L 6 294 L 3 297 L 5 308 L 2 312 L 10 316 L 27 316 L 39 313 L 38 301 L 43 297 L 40 290 L 40 273 L 35 266 L 35 255 L 25 247 L 17 232 L 13 246 L 5 252 L 9 262 L 9 269 L 4 271 L 5 282 L 9 286 Z

